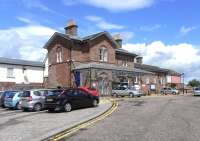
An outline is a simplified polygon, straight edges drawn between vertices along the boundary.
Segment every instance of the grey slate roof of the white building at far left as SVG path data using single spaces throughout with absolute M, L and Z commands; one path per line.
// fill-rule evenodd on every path
M 0 57 L 0 64 L 44 67 L 43 62 L 27 61 L 27 60 L 21 60 L 21 59 L 10 59 L 10 58 L 4 58 L 4 57 Z

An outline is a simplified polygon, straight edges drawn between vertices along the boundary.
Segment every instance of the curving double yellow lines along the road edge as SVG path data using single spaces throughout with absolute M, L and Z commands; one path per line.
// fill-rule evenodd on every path
M 63 138 L 68 137 L 69 135 L 79 131 L 80 129 L 86 128 L 88 126 L 91 126 L 92 124 L 105 119 L 107 116 L 111 115 L 118 107 L 118 103 L 116 102 L 116 100 L 113 99 L 109 99 L 110 102 L 112 102 L 112 106 L 106 110 L 104 113 L 102 113 L 101 115 L 94 117 L 86 122 L 80 123 L 78 125 L 75 125 L 69 129 L 64 130 L 63 132 L 58 133 L 57 135 L 54 135 L 51 140 L 53 141 L 59 141 Z

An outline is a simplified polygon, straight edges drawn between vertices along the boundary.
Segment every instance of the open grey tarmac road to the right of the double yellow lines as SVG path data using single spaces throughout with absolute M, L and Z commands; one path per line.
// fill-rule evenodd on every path
M 200 97 L 118 98 L 108 118 L 65 141 L 199 141 Z M 64 141 L 63 140 L 63 141 Z

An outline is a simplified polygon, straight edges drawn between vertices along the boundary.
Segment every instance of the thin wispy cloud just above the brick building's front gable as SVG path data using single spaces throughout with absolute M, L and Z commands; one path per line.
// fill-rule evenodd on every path
M 118 24 L 113 24 L 105 21 L 102 17 L 98 16 L 86 16 L 87 20 L 94 22 L 97 27 L 103 30 L 110 30 L 110 29 L 124 29 L 125 27 Z

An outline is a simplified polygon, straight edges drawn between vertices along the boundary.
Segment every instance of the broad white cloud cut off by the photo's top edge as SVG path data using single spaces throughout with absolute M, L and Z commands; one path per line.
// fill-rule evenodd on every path
M 69 1 L 71 0 L 64 0 L 64 4 L 67 5 Z M 155 0 L 74 0 L 75 2 L 119 12 L 150 7 L 155 3 Z

